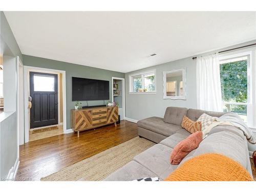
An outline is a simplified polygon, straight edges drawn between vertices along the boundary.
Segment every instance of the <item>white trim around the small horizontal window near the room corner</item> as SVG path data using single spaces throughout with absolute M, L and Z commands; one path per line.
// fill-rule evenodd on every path
M 154 92 L 134 92 L 133 91 L 133 77 L 135 76 L 141 76 L 142 78 L 142 89 L 144 87 L 144 78 L 143 76 L 144 75 L 147 75 L 147 74 L 152 74 L 154 73 L 155 74 L 155 91 Z M 134 74 L 130 74 L 129 75 L 129 94 L 156 94 L 157 92 L 157 73 L 156 73 L 156 69 L 154 70 L 151 70 L 151 71 L 142 71 L 142 72 L 138 72 L 138 73 L 134 73 Z

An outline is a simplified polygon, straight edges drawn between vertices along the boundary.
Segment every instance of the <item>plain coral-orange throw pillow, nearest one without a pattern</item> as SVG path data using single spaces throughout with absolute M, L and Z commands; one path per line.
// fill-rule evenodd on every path
M 198 131 L 189 135 L 186 139 L 179 142 L 170 154 L 170 163 L 173 165 L 179 164 L 187 154 L 195 150 L 203 140 L 203 133 Z

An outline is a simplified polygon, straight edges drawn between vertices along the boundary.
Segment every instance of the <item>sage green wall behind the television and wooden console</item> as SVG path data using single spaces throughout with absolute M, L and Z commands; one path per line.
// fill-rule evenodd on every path
M 74 109 L 75 105 L 75 102 L 72 101 L 72 77 L 110 81 L 110 100 L 112 99 L 112 77 L 124 78 L 124 73 L 81 66 L 73 63 L 29 55 L 23 55 L 23 65 L 66 71 L 67 129 L 71 129 L 71 109 Z M 103 104 L 103 101 L 88 101 L 88 103 L 89 105 L 98 105 Z M 82 101 L 82 105 L 87 105 L 87 102 Z

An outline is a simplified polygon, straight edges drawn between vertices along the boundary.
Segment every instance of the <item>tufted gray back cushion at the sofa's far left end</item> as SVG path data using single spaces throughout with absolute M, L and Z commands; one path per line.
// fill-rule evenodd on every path
M 181 125 L 184 115 L 187 115 L 187 108 L 169 106 L 165 110 L 163 121 L 166 123 Z

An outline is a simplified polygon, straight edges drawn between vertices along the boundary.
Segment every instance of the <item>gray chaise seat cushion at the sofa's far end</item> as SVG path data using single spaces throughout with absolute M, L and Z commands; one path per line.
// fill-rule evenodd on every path
M 139 127 L 159 133 L 165 136 L 173 135 L 178 130 L 182 129 L 181 126 L 165 123 L 163 118 L 160 117 L 150 117 L 146 119 L 139 120 L 137 122 Z

